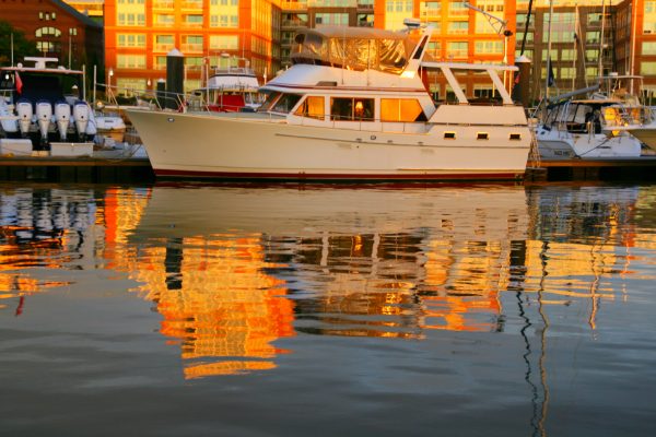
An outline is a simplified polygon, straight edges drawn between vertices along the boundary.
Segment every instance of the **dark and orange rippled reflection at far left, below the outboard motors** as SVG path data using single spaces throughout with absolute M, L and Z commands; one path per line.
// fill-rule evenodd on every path
M 80 251 L 94 213 L 90 190 L 0 190 L 0 309 L 10 308 L 12 302 L 20 316 L 27 296 L 68 284 L 32 273 L 80 269 Z

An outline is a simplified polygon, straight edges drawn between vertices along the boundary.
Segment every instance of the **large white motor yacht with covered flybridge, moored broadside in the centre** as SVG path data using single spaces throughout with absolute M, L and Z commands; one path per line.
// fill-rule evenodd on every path
M 516 67 L 422 62 L 430 35 L 303 29 L 294 64 L 260 88 L 257 113 L 127 113 L 159 177 L 522 178 L 531 131 L 500 78 Z M 436 106 L 420 67 L 442 71 L 457 104 Z M 457 70 L 487 74 L 501 102 L 470 104 Z

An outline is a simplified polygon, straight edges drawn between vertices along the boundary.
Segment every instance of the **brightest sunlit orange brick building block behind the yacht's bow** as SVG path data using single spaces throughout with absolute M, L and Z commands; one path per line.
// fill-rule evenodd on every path
M 272 0 L 105 0 L 106 80 L 119 94 L 150 91 L 166 78 L 166 55 L 185 57 L 185 88 L 209 71 L 280 69 L 280 7 Z

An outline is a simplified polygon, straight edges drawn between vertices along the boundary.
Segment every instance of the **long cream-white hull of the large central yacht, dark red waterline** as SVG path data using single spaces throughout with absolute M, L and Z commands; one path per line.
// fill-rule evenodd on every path
M 527 127 L 493 127 L 478 141 L 481 127 L 420 123 L 389 132 L 358 128 L 290 125 L 262 115 L 212 116 L 130 111 L 160 177 L 248 179 L 517 179 L 530 147 Z M 355 122 L 356 123 L 356 122 Z M 379 125 L 379 123 L 378 123 Z M 402 123 L 398 123 L 402 125 Z M 519 132 L 522 139 L 509 143 Z

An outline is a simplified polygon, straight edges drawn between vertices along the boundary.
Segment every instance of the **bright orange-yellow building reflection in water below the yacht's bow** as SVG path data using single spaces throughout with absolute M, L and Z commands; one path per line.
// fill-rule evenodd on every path
M 164 318 L 161 332 L 178 340 L 187 378 L 274 368 L 284 351 L 272 343 L 294 334 L 293 304 L 284 281 L 265 273 L 276 265 L 259 239 L 184 238 L 149 249 L 133 272 Z

